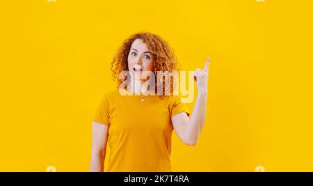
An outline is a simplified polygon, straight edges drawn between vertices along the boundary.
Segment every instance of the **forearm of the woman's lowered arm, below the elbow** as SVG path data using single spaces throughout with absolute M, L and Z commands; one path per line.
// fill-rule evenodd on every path
M 93 150 L 90 160 L 90 172 L 103 172 L 104 171 L 104 150 Z

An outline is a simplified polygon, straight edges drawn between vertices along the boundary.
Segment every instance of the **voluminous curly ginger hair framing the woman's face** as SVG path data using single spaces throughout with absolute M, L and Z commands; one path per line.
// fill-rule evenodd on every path
M 177 62 L 177 58 L 174 54 L 174 51 L 170 46 L 168 45 L 168 42 L 166 40 L 163 40 L 160 36 L 157 36 L 154 33 L 148 33 L 148 32 L 142 32 L 142 33 L 134 33 L 133 35 L 129 36 L 120 48 L 118 49 L 118 52 L 113 57 L 113 61 L 111 63 L 111 71 L 113 72 L 113 78 L 117 80 L 118 87 L 120 87 L 120 84 L 125 79 L 120 79 L 120 73 L 129 70 L 128 69 L 128 55 L 129 51 L 131 49 L 131 45 L 136 39 L 141 39 L 143 42 L 147 45 L 147 48 L 150 50 L 150 52 L 153 55 L 153 72 L 154 75 L 157 75 L 157 72 L 178 72 L 179 71 L 179 63 Z M 129 79 L 128 79 L 129 80 Z M 156 77 L 155 82 L 155 90 L 157 92 L 157 81 L 161 81 L 163 79 L 158 79 Z M 170 90 L 167 90 L 168 88 L 164 87 L 165 82 L 163 81 L 163 94 L 159 96 L 160 98 L 163 98 L 163 95 L 165 95 L 165 91 L 170 91 L 170 93 L 173 93 L 173 85 L 174 83 L 170 83 Z M 126 88 L 125 88 L 126 89 Z

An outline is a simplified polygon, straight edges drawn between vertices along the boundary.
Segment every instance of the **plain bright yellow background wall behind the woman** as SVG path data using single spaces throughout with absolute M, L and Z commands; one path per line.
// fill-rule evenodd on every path
M 184 70 L 211 56 L 207 123 L 196 146 L 173 133 L 173 171 L 313 171 L 312 17 L 304 0 L 1 1 L 0 171 L 88 171 L 111 59 L 138 31 Z

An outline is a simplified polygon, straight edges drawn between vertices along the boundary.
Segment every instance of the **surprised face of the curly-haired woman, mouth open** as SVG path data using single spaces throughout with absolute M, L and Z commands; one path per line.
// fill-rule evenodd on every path
M 140 38 L 134 40 L 128 54 L 128 69 L 131 77 L 141 79 L 144 71 L 153 70 L 153 56 Z

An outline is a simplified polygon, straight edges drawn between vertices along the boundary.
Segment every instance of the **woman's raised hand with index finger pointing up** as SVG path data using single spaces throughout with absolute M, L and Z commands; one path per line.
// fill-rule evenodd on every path
M 197 82 L 198 93 L 203 93 L 204 95 L 207 95 L 207 82 L 209 78 L 209 61 L 210 57 L 207 58 L 203 70 L 197 68 L 193 72 L 193 76 L 195 78 L 195 81 Z

